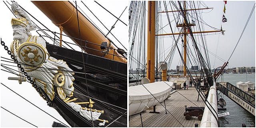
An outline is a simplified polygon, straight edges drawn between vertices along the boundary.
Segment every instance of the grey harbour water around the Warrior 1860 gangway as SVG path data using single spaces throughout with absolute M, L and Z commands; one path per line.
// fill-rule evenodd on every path
M 255 74 L 224 74 L 218 82 L 229 82 L 236 86 L 236 82 L 254 82 Z M 221 127 L 242 127 L 242 124 L 246 124 L 247 127 L 255 126 L 255 116 L 244 110 L 241 106 L 234 101 L 223 95 L 226 101 L 226 112 L 229 112 L 229 116 L 220 117 Z

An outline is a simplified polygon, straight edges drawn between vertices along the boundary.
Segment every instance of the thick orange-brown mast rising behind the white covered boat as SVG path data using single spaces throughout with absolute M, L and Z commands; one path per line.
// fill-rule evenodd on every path
M 148 47 L 147 47 L 147 78 L 155 82 L 155 38 L 156 38 L 156 5 L 148 1 Z

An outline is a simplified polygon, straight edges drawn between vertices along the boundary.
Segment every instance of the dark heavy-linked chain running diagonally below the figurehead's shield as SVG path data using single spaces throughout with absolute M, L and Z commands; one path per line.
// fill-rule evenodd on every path
M 24 76 L 27 77 L 27 79 L 29 80 L 30 84 L 32 84 L 32 86 L 36 89 L 36 91 L 40 94 L 40 96 L 46 100 L 46 103 L 48 106 L 52 106 L 50 100 L 42 93 L 42 89 L 39 88 L 35 82 L 31 79 L 30 76 L 28 76 L 28 73 L 25 72 L 24 68 L 22 68 L 21 64 L 18 63 L 18 60 L 15 58 L 14 55 L 12 55 L 12 52 L 8 49 L 8 47 L 5 45 L 4 41 L 2 41 L 1 38 L 1 45 L 4 46 L 4 49 L 7 51 L 7 53 L 11 56 L 11 58 L 14 60 L 14 62 L 17 64 L 18 68 L 20 68 L 20 71 L 24 74 Z

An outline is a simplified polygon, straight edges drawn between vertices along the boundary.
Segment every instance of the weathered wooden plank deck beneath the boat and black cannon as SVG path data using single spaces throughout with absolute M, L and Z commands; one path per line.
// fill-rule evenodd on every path
M 184 98 L 184 96 L 191 102 Z M 202 99 L 199 97 L 199 101 L 197 101 L 197 98 L 198 93 L 194 86 L 189 87 L 188 90 L 184 90 L 184 88 L 177 90 L 170 98 L 165 100 L 166 109 L 170 113 L 167 112 L 165 114 L 164 102 L 162 102 L 163 106 L 161 104 L 156 106 L 156 112 L 160 112 L 160 114 L 149 113 L 153 111 L 153 107 L 141 113 L 143 127 L 195 127 L 195 123 L 198 123 L 200 126 L 201 121 L 197 117 L 191 117 L 190 120 L 186 120 L 185 116 L 183 116 L 185 105 L 187 107 L 196 107 L 196 105 L 198 107 L 205 106 Z M 140 114 L 129 116 L 129 127 L 142 127 Z

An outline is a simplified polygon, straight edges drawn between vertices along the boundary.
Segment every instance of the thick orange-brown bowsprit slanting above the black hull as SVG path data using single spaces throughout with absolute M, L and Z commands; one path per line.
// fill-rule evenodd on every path
M 33 4 L 37 6 L 56 26 L 63 26 L 63 32 L 68 36 L 74 38 L 80 38 L 78 30 L 78 21 L 76 8 L 68 1 L 32 1 Z M 95 44 L 90 44 L 86 42 L 81 42 L 80 40 L 72 39 L 76 44 L 86 46 L 84 49 L 88 54 L 94 54 L 96 56 L 104 56 L 104 52 L 101 52 L 100 46 L 102 42 L 107 42 L 110 48 L 114 48 L 110 44 L 110 40 L 104 37 L 90 22 L 78 11 L 78 20 L 80 26 L 81 39 Z M 116 49 L 116 48 L 114 48 Z M 97 50 L 97 51 L 96 51 Z M 104 58 L 108 58 L 119 62 L 127 63 L 127 60 L 122 57 L 121 54 L 116 52 L 116 50 L 110 49 Z M 111 55 L 115 54 L 117 56 Z

